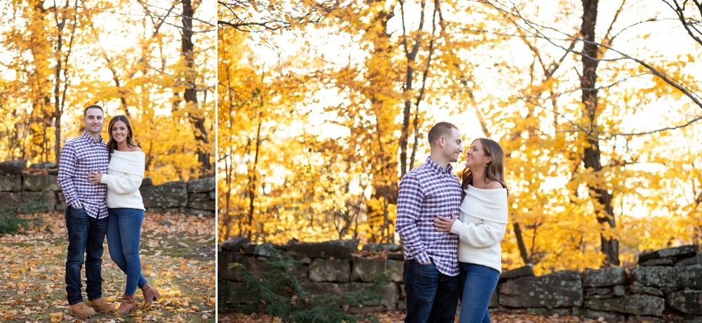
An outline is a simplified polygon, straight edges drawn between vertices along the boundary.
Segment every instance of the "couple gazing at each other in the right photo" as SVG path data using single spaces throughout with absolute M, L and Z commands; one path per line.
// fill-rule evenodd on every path
M 405 322 L 489 323 L 488 304 L 502 272 L 507 228 L 504 153 L 479 138 L 466 152 L 458 128 L 439 122 L 429 133 L 430 157 L 402 178 L 395 231 L 404 244 Z

